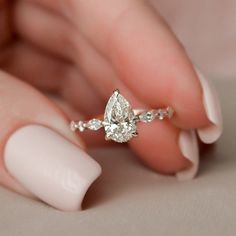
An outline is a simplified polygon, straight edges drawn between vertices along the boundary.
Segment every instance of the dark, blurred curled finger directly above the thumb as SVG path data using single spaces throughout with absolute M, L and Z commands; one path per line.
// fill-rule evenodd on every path
M 3 70 L 44 92 L 64 98 L 83 114 L 91 116 L 103 109 L 102 100 L 73 64 L 23 42 L 6 48 L 1 55 Z

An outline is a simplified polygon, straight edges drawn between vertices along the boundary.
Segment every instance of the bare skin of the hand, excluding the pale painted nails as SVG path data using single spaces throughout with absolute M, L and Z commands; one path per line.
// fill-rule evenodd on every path
M 148 1 L 0 1 L 0 15 L 3 185 L 23 193 L 3 162 L 4 143 L 19 126 L 44 124 L 82 148 L 104 145 L 103 133 L 75 137 L 66 124 L 103 113 L 116 88 L 133 107 L 176 111 L 171 122 L 139 124 L 139 137 L 129 143 L 137 156 L 166 174 L 190 165 L 178 136 L 210 124 L 201 86 L 183 46 Z

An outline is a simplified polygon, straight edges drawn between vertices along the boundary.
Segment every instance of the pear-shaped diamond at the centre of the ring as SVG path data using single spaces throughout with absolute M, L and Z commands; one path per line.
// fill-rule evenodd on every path
M 115 90 L 109 98 L 104 114 L 106 139 L 123 143 L 136 136 L 135 115 L 129 102 Z

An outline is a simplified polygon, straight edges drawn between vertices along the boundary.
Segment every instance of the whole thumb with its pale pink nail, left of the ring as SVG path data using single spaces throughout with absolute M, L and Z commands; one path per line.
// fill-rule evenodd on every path
M 100 166 L 61 111 L 32 87 L 0 72 L 2 185 L 61 210 L 77 210 Z

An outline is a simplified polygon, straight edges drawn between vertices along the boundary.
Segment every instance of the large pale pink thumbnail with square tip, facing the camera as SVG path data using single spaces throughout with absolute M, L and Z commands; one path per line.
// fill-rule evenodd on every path
M 82 149 L 40 125 L 18 129 L 8 139 L 5 165 L 23 187 L 64 211 L 81 209 L 101 167 Z

